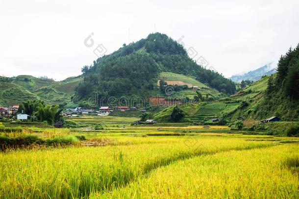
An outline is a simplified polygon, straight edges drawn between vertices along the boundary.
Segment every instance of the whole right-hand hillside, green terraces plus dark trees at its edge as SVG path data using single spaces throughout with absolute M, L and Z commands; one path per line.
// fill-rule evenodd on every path
M 186 103 L 182 121 L 205 122 L 211 118 L 259 120 L 278 116 L 284 121 L 299 120 L 299 45 L 281 56 L 276 73 L 263 76 L 236 94 L 212 102 Z M 154 118 L 171 120 L 174 107 L 168 107 Z

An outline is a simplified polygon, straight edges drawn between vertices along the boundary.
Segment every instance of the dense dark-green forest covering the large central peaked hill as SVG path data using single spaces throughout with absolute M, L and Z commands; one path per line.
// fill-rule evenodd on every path
M 161 72 L 183 74 L 220 92 L 233 94 L 235 85 L 221 74 L 199 66 L 186 50 L 166 34 L 153 33 L 145 39 L 123 45 L 82 68 L 84 81 L 76 88 L 74 100 L 99 97 L 143 96 L 155 93 Z

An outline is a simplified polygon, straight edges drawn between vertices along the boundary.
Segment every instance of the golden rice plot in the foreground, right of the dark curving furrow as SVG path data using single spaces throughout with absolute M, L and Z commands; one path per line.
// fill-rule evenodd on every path
M 299 198 L 299 145 L 227 151 L 161 167 L 91 198 Z

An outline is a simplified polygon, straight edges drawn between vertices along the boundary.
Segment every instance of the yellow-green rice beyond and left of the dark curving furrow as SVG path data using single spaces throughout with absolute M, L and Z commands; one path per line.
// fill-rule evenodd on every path
M 127 139 L 138 142 L 148 138 Z M 194 144 L 187 144 L 183 137 L 168 137 L 149 144 L 0 153 L 0 198 L 88 197 L 123 187 L 179 160 L 273 145 L 226 137 L 194 139 Z

